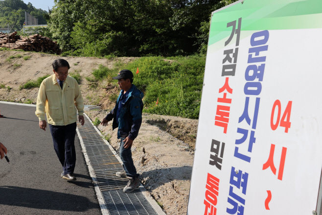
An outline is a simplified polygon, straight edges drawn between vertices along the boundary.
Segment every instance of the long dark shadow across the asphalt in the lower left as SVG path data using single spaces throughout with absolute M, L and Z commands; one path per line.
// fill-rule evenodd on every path
M 97 204 L 92 203 L 88 198 L 69 193 L 13 186 L 0 187 L 0 193 L 0 208 L 1 205 L 11 205 L 74 212 L 85 212 L 97 208 Z

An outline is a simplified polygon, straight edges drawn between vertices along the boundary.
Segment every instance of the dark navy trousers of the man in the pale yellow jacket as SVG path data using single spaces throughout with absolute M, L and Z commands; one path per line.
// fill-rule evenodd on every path
M 69 125 L 49 124 L 54 149 L 64 169 L 64 175 L 74 173 L 76 163 L 76 122 Z

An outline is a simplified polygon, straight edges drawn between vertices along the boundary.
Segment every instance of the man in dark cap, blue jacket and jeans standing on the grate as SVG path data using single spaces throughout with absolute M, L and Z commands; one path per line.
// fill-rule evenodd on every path
M 113 130 L 118 127 L 117 139 L 121 139 L 120 157 L 123 162 L 123 170 L 116 172 L 116 176 L 129 179 L 123 189 L 124 192 L 132 192 L 139 187 L 139 174 L 132 159 L 131 146 L 138 136 L 138 130 L 142 123 L 143 93 L 132 84 L 133 73 L 122 70 L 113 79 L 118 80 L 121 89 L 113 110 L 103 119 L 101 124 L 106 126 L 108 121 L 113 120 Z

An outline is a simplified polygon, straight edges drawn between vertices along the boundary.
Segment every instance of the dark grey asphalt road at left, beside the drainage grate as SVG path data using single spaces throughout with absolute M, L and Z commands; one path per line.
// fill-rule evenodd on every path
M 35 107 L 0 103 L 0 142 L 10 164 L 0 160 L 0 215 L 99 215 L 100 207 L 76 136 L 77 181 L 60 177 L 62 166 L 47 126 Z

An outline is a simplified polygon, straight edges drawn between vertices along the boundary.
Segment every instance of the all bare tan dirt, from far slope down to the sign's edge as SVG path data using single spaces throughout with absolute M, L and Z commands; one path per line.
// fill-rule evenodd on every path
M 22 57 L 11 57 L 8 60 L 10 56 L 19 54 Z M 24 60 L 24 56 L 30 58 Z M 0 86 L 5 86 L 0 87 L 0 100 L 35 103 L 38 88 L 19 88 L 28 80 L 52 74 L 51 64 L 57 58 L 59 56 L 35 52 L 0 51 Z M 115 94 L 119 91 L 116 84 L 107 87 L 108 83 L 105 81 L 98 82 L 93 87 L 86 77 L 91 76 L 92 70 L 100 64 L 112 68 L 115 63 L 126 64 L 135 59 L 60 58 L 69 62 L 69 73 L 78 72 L 81 75 L 79 85 L 85 104 L 100 105 L 104 109 L 88 112 L 93 121 L 96 117 L 102 120 L 107 110 L 114 107 Z M 111 123 L 106 127 L 99 125 L 98 129 L 108 137 L 115 150 L 119 151 L 117 129 L 112 131 Z M 143 114 L 138 138 L 132 147 L 133 159 L 142 184 L 167 215 L 186 214 L 197 125 L 196 119 Z

